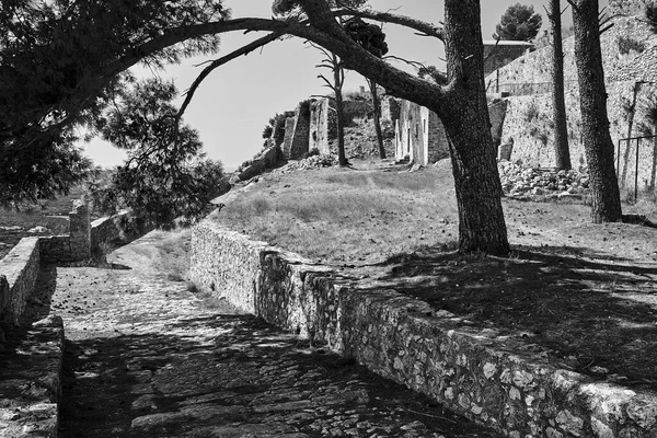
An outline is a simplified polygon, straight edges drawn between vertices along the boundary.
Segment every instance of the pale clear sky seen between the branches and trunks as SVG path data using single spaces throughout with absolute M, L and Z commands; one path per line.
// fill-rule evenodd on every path
M 272 0 L 224 0 L 232 10 L 233 18 L 270 18 Z M 482 34 L 491 39 L 495 24 L 506 9 L 518 0 L 481 0 Z M 543 16 L 543 30 L 548 28 L 548 19 L 543 5 L 548 0 L 521 0 L 531 4 Z M 442 21 L 442 1 L 437 0 L 370 0 L 374 10 L 394 11 L 397 14 L 438 23 Z M 562 1 L 563 4 L 566 1 Z M 608 0 L 601 0 L 601 5 Z M 570 12 L 563 18 L 564 25 L 572 23 Z M 425 65 L 440 65 L 443 56 L 442 43 L 436 38 L 414 35 L 412 31 L 388 24 L 384 27 L 389 55 L 412 59 Z M 139 68 L 138 76 L 158 74 L 163 79 L 173 79 L 178 90 L 184 92 L 203 70 L 200 62 L 219 58 L 264 34 L 243 33 L 224 34 L 221 37 L 221 50 L 214 57 L 184 59 L 181 65 L 168 66 L 163 71 L 150 71 Z M 300 101 L 313 95 L 328 93 L 318 74 L 327 73 L 315 66 L 322 55 L 299 38 L 274 42 L 262 50 L 234 59 L 216 69 L 199 87 L 184 115 L 184 122 L 199 131 L 207 157 L 219 160 L 227 171 L 234 171 L 243 161 L 256 154 L 263 145 L 262 131 L 267 120 L 277 113 L 295 110 Z M 396 67 L 408 70 L 397 64 Z M 411 70 L 412 71 L 412 70 Z M 362 77 L 348 72 L 345 90 L 358 90 L 365 84 Z M 182 102 L 182 101 L 181 101 Z M 110 143 L 94 139 L 82 143 L 96 165 L 112 168 L 124 160 L 124 152 Z

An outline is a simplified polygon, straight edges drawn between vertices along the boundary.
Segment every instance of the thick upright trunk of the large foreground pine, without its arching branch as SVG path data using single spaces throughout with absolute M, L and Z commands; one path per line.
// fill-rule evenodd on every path
M 450 143 L 457 203 L 459 251 L 508 255 L 502 184 L 491 135 L 484 84 L 484 56 L 477 0 L 445 1 L 447 74 L 453 93 L 433 105 Z

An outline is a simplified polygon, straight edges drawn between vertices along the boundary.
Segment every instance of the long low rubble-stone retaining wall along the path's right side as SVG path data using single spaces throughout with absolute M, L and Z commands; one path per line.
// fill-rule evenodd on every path
M 512 438 L 655 438 L 657 394 L 546 364 L 453 314 L 204 222 L 192 237 L 198 287 Z M 525 351 L 525 353 L 518 353 Z

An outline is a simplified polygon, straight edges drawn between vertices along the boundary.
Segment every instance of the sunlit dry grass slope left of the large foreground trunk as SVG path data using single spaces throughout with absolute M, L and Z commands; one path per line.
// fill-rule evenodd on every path
M 218 220 L 332 265 L 382 263 L 423 246 L 453 246 L 453 189 L 438 172 L 330 169 L 269 175 Z M 437 220 L 438 218 L 438 220 Z

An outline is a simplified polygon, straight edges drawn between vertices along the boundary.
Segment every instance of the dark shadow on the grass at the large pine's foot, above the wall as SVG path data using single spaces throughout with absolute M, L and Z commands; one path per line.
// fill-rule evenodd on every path
M 538 344 L 558 365 L 657 389 L 657 268 L 587 247 L 516 247 L 509 258 L 395 256 L 378 286 Z

